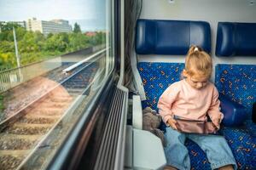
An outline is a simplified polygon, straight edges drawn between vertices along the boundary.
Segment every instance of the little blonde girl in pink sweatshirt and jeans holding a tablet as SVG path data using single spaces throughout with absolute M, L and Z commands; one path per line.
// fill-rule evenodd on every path
M 218 90 L 208 82 L 212 74 L 212 59 L 201 48 L 192 46 L 185 59 L 184 79 L 174 82 L 160 96 L 158 108 L 166 123 L 166 160 L 170 169 L 190 169 L 189 153 L 184 145 L 189 138 L 207 154 L 212 169 L 236 169 L 236 161 L 229 145 L 222 136 L 211 134 L 181 133 L 177 131 L 173 116 L 188 120 L 207 121 L 215 127 L 223 119 L 219 111 Z

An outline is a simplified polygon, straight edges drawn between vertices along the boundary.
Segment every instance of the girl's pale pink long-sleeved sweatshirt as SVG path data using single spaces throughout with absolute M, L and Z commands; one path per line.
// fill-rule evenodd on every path
M 218 127 L 223 119 L 219 111 L 218 90 L 208 82 L 201 89 L 192 88 L 185 79 L 172 83 L 160 96 L 157 107 L 166 123 L 173 115 L 189 120 L 207 121 L 207 114 Z

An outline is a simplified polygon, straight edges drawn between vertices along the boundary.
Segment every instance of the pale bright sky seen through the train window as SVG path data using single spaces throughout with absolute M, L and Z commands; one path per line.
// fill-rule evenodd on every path
M 0 21 L 63 19 L 81 29 L 105 27 L 105 0 L 0 0 Z

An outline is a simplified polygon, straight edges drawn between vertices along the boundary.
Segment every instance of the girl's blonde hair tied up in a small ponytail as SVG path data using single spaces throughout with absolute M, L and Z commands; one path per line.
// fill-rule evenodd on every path
M 185 59 L 185 69 L 190 77 L 211 77 L 212 58 L 202 48 L 192 45 Z

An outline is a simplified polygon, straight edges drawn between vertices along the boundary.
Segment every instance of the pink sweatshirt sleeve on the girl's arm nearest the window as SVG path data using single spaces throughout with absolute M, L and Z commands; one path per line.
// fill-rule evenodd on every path
M 172 118 L 172 103 L 177 99 L 179 88 L 177 83 L 173 83 L 169 86 L 166 91 L 160 96 L 157 107 L 159 108 L 160 116 L 163 122 L 167 122 L 168 119 Z

